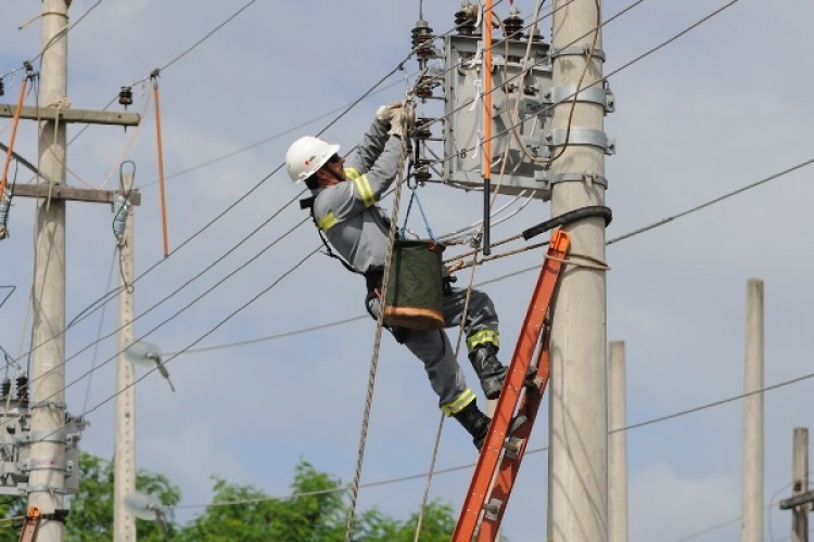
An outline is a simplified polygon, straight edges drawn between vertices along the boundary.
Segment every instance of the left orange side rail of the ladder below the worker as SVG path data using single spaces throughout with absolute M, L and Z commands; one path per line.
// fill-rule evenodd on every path
M 492 424 L 489 424 L 488 434 L 472 476 L 472 482 L 463 501 L 461 515 L 453 533 L 454 542 L 470 542 L 474 535 L 489 486 L 495 478 L 498 461 L 504 452 L 506 431 L 517 410 L 520 393 L 523 391 L 527 369 L 540 337 L 543 324 L 548 315 L 548 308 L 557 287 L 562 260 L 568 254 L 569 246 L 570 236 L 567 232 L 557 230 L 551 234 L 548 254 L 543 262 L 529 310 L 523 320 L 511 365 L 504 380 L 504 389 L 500 392 L 495 415 Z

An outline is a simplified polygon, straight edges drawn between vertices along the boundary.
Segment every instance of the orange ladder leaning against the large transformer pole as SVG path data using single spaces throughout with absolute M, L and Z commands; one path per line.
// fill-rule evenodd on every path
M 556 230 L 551 235 L 548 254 L 523 321 L 504 389 L 497 401 L 497 409 L 453 534 L 454 542 L 475 540 L 479 520 L 476 540 L 493 541 L 497 538 L 500 520 L 525 453 L 525 444 L 548 384 L 549 337 L 547 332 L 543 332 L 570 244 L 569 234 L 562 230 Z M 539 340 L 543 343 L 536 372 L 532 376 L 529 369 Z M 516 413 L 526 416 L 527 420 L 512 435 L 507 435 Z

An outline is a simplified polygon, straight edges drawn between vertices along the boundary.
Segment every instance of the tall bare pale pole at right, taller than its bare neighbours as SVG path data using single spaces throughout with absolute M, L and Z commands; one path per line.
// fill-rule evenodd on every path
M 763 281 L 747 282 L 740 540 L 763 542 Z M 750 395 L 751 393 L 751 395 Z

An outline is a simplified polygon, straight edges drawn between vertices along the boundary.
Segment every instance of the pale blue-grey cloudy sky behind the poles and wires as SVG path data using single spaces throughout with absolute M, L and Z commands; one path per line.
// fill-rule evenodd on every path
M 177 0 L 99 3 L 69 34 L 68 98 L 76 108 L 102 108 L 119 88 L 144 80 L 187 51 L 247 2 Z M 606 1 L 605 18 L 634 2 Z M 611 73 L 663 43 L 727 2 L 647 0 L 603 28 L 605 72 Z M 75 0 L 75 20 L 97 2 Z M 516 2 L 529 17 L 533 2 Z M 436 33 L 453 26 L 457 1 L 424 2 Z M 10 2 L 0 22 L 0 74 L 18 68 L 41 47 L 39 3 Z M 548 2 L 544 11 L 550 10 Z M 508 15 L 508 2 L 497 8 Z M 812 7 L 801 1 L 740 0 L 659 51 L 610 78 L 616 111 L 606 131 L 616 140 L 609 157 L 607 203 L 614 220 L 608 238 L 677 215 L 812 158 L 809 89 Z M 145 311 L 238 244 L 297 194 L 288 177 L 268 177 L 288 144 L 322 129 L 341 108 L 407 55 L 418 2 L 268 2 L 249 5 L 229 24 L 161 76 L 164 160 L 170 248 L 177 248 L 232 202 L 259 183 L 234 209 L 137 283 L 137 312 Z M 550 18 L 543 22 L 550 39 Z M 405 64 L 407 77 L 415 61 Z M 16 99 L 20 79 L 7 80 L 1 100 Z M 381 103 L 399 99 L 405 73 L 361 101 L 325 134 L 351 149 Z M 136 272 L 162 259 L 152 104 L 149 88 L 133 87 L 129 111 L 145 112 L 140 129 L 92 127 L 68 150 L 81 179 L 72 185 L 111 189 L 118 163 L 137 164 L 142 205 L 136 210 Z M 33 104 L 29 96 L 27 104 Z M 149 108 L 145 106 L 149 105 Z M 115 109 L 115 107 L 113 107 Z M 308 122 L 307 125 L 305 125 Z M 68 127 L 69 137 L 78 133 Z M 8 142 L 8 120 L 0 141 Z M 36 157 L 36 129 L 22 125 L 17 151 Z M 105 181 L 109 173 L 114 172 Z M 268 178 L 267 178 L 268 177 Z M 765 382 L 811 373 L 806 352 L 814 304 L 810 168 L 743 192 L 608 247 L 608 338 L 624 340 L 627 420 L 636 424 L 721 399 L 743 388 L 746 284 L 765 283 Z M 20 173 L 18 182 L 29 179 Z M 104 183 L 104 184 L 103 184 Z M 421 193 L 433 230 L 474 222 L 480 195 L 445 186 Z M 501 199 L 508 203 L 510 198 Z M 391 202 L 385 202 L 390 208 Z M 500 223 L 505 238 L 549 217 L 532 202 Z M 222 286 L 174 317 L 305 216 L 296 205 L 215 264 L 200 280 L 151 310 L 136 324 L 148 340 L 177 352 L 204 336 L 232 311 L 267 288 L 316 248 L 308 224 L 295 230 Z M 101 205 L 72 204 L 67 223 L 67 315 L 78 314 L 109 289 L 115 243 L 112 214 Z M 17 287 L 0 308 L 0 345 L 25 352 L 30 288 L 34 206 L 16 201 L 11 238 L 0 243 L 0 284 Z M 420 229 L 420 223 L 414 224 Z M 476 282 L 537 264 L 539 253 L 503 258 L 478 270 Z M 113 284 L 115 284 L 115 271 Z M 503 357 L 525 313 L 534 273 L 489 283 L 500 313 Z M 284 334 L 364 314 L 356 276 L 323 256 L 310 258 L 279 286 L 228 320 L 196 347 L 215 347 Z M 100 311 L 101 312 L 101 311 Z M 98 312 L 67 335 L 68 356 L 115 328 L 115 307 Z M 168 364 L 177 391 L 161 377 L 137 387 L 137 463 L 161 472 L 183 491 L 183 504 L 206 503 L 209 476 L 253 483 L 271 495 L 288 494 L 301 459 L 349 481 L 361 423 L 374 324 L 343 325 L 241 347 L 185 353 Z M 455 339 L 455 334 L 451 334 Z M 68 382 L 115 353 L 115 340 L 90 348 L 67 364 Z M 461 356 L 461 361 L 466 360 Z M 474 383 L 471 370 L 468 377 Z M 137 370 L 139 374 L 143 370 Z M 85 450 L 112 457 L 113 363 L 67 390 L 68 410 L 88 415 Z M 812 423 L 811 380 L 765 396 L 766 535 L 783 540 L 794 427 Z M 547 406 L 531 449 L 547 446 Z M 371 413 L 363 483 L 427 472 L 438 413 L 418 362 L 386 337 Z M 445 424 L 438 468 L 473 463 L 471 442 Z M 742 403 L 724 405 L 627 433 L 632 541 L 739 540 Z M 378 505 L 406 517 L 423 480 L 363 489 L 359 506 Z M 463 469 L 435 478 L 431 495 L 457 509 L 469 483 Z M 514 541 L 540 540 L 546 525 L 547 455 L 526 456 L 505 519 Z M 179 511 L 189 517 L 196 508 Z M 665 535 L 665 533 L 669 533 Z

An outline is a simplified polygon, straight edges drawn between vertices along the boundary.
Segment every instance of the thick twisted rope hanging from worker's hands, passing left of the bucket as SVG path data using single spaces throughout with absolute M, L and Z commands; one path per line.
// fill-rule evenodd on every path
M 373 388 L 376 386 L 376 373 L 379 366 L 379 349 L 381 346 L 382 328 L 384 327 L 384 299 L 387 295 L 387 281 L 390 280 L 391 271 L 391 259 L 393 257 L 393 245 L 396 240 L 398 218 L 398 207 L 402 196 L 402 183 L 404 182 L 404 160 L 407 158 L 408 140 L 407 134 L 409 133 L 409 122 L 411 117 L 411 101 L 407 100 L 404 104 L 404 114 L 402 115 L 402 152 L 398 158 L 398 173 L 396 176 L 395 195 L 393 202 L 393 212 L 390 220 L 390 231 L 387 232 L 387 253 L 384 260 L 384 273 L 382 276 L 381 296 L 382 300 L 381 310 L 379 311 L 379 318 L 376 321 L 376 336 L 373 339 L 373 354 L 370 360 L 370 373 L 368 376 L 368 389 L 365 397 L 365 412 L 361 421 L 361 430 L 359 434 L 359 448 L 356 457 L 356 472 L 354 473 L 354 480 L 351 487 L 351 506 L 347 511 L 347 526 L 345 531 L 345 542 L 351 542 L 354 526 L 354 515 L 356 513 L 356 503 L 359 496 L 359 480 L 361 479 L 361 464 L 365 460 L 365 444 L 367 442 L 368 425 L 370 423 L 370 406 L 373 402 Z

